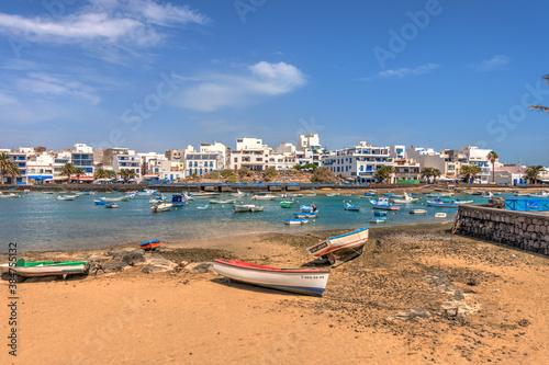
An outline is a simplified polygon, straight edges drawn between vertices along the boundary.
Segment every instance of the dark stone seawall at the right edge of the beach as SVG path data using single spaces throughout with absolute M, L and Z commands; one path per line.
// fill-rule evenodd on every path
M 455 228 L 466 236 L 549 254 L 549 213 L 515 212 L 468 204 L 458 208 Z

